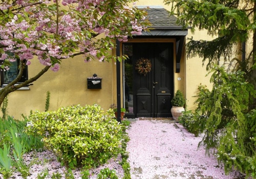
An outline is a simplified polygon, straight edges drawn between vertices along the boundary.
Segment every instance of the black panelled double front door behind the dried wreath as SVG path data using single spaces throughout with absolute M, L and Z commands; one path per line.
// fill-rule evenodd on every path
M 171 42 L 132 43 L 133 113 L 135 117 L 171 117 L 170 99 L 174 89 L 174 44 Z M 137 60 L 151 61 L 145 76 L 135 69 Z

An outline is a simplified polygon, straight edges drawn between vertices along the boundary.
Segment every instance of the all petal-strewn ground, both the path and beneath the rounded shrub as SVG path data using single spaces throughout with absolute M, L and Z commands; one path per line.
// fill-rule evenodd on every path
M 127 133 L 131 140 L 127 144 L 131 165 L 132 179 L 157 178 L 236 178 L 243 175 L 236 171 L 225 175 L 223 166 L 217 163 L 214 156 L 205 156 L 203 148 L 198 149 L 200 137 L 195 137 L 186 129 L 171 120 L 131 120 Z M 50 151 L 30 152 L 24 156 L 30 166 L 31 175 L 27 179 L 37 178 L 46 169 L 52 178 L 60 173 L 65 178 L 67 170 L 61 167 L 55 155 Z M 34 161 L 34 162 L 33 162 Z M 103 168 L 115 169 L 119 178 L 123 177 L 123 169 L 119 165 L 121 156 L 109 160 L 108 164 L 90 170 L 90 179 L 97 178 Z M 80 170 L 73 170 L 75 179 L 81 178 Z M 0 174 L 0 178 L 3 176 Z M 20 173 L 13 173 L 12 178 L 21 179 Z

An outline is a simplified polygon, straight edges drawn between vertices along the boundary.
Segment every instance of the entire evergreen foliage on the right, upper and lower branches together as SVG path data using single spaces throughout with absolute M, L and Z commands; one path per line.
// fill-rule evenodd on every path
M 192 32 L 195 28 L 206 30 L 212 36 L 209 41 L 191 38 L 186 44 L 187 56 L 199 55 L 203 63 L 208 61 L 206 68 L 213 69 L 212 90 L 199 87 L 197 113 L 207 117 L 198 119 L 205 132 L 201 145 L 205 145 L 207 151 L 217 148 L 218 159 L 225 164 L 226 171 L 234 167 L 255 178 L 255 40 L 251 52 L 244 52 L 243 60 L 230 59 L 237 60 L 239 71 L 226 74 L 215 67 L 221 55 L 229 58 L 233 44 L 256 38 L 255 1 L 164 2 L 172 5 L 171 14 L 177 15 L 178 24 L 190 26 Z

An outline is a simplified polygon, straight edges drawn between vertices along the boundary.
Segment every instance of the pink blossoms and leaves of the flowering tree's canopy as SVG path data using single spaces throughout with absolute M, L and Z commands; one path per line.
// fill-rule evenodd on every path
M 1 10 L 19 8 L 19 11 L 13 12 L 13 17 L 6 24 L 0 26 L 0 44 L 4 46 L 2 49 L 5 52 L 15 53 L 20 60 L 30 60 L 35 55 L 43 65 L 52 65 L 52 61 L 56 59 L 82 53 L 86 59 L 88 58 L 86 61 L 90 61 L 91 58 L 97 58 L 98 49 L 112 49 L 114 44 L 110 41 L 113 42 L 117 38 L 120 41 L 127 41 L 128 36 L 140 34 L 143 30 L 138 23 L 140 19 L 137 20 L 138 17 L 133 16 L 135 9 L 124 3 L 119 4 L 122 1 L 113 4 L 110 14 L 105 16 L 110 7 L 104 0 L 63 0 L 63 5 L 72 6 L 66 7 L 68 11 L 59 11 L 58 19 L 56 10 L 49 8 L 49 3 L 56 3 L 55 0 L 38 2 L 42 6 L 29 4 L 31 2 L 25 0 L 0 3 Z M 109 20 L 111 23 L 105 23 Z M 108 38 L 98 39 L 97 35 L 101 33 L 105 33 Z M 104 55 L 99 61 L 112 59 L 111 54 Z M 5 55 L 1 55 L 0 58 L 16 60 Z M 54 71 L 58 69 L 58 64 L 52 68 Z

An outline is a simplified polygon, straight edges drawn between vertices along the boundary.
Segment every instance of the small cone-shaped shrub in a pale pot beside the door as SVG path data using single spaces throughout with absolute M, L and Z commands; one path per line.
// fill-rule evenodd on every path
M 181 91 L 178 89 L 176 91 L 175 96 L 173 97 L 171 103 L 172 108 L 170 109 L 170 112 L 172 113 L 173 119 L 178 120 L 179 116 L 182 114 L 182 111 L 184 111 L 184 105 L 185 105 L 185 98 Z

